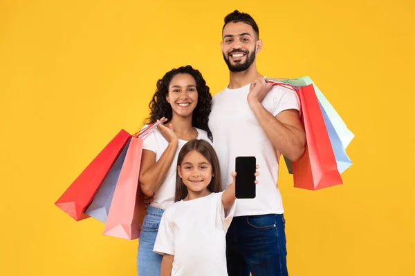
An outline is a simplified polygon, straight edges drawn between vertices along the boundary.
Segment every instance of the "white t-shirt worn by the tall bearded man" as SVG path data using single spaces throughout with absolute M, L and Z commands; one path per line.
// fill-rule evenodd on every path
M 259 183 L 255 199 L 239 199 L 235 217 L 242 215 L 282 214 L 282 198 L 277 186 L 279 152 L 275 150 L 254 112 L 248 105 L 250 84 L 238 89 L 225 88 L 214 95 L 209 128 L 219 157 L 223 188 L 232 183 L 235 158 L 255 156 L 259 165 Z M 274 116 L 287 109 L 299 110 L 297 93 L 274 86 L 262 105 Z

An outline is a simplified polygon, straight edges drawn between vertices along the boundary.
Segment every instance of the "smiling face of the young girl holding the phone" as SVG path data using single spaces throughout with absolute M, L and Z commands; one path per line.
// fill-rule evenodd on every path
M 212 180 L 212 164 L 203 155 L 192 150 L 185 155 L 177 170 L 189 193 L 203 195 L 206 192 Z

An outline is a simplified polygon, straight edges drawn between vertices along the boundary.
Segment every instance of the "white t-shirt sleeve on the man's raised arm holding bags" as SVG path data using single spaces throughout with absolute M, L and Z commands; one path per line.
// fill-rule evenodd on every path
M 291 89 L 279 87 L 275 89 L 273 95 L 273 115 L 288 109 L 300 110 L 300 102 L 297 93 Z

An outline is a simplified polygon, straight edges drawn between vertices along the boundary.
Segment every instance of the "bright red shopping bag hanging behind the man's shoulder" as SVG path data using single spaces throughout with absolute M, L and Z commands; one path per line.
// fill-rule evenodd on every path
M 295 90 L 301 102 L 301 119 L 306 131 L 306 151 L 293 162 L 294 186 L 318 190 L 342 184 L 326 124 L 313 84 L 294 87 L 287 83 L 273 83 Z

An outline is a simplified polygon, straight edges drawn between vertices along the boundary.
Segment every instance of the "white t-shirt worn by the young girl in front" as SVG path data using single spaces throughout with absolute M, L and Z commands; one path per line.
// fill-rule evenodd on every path
M 153 251 L 174 255 L 172 276 L 228 276 L 225 237 L 237 202 L 225 217 L 222 193 L 177 201 L 163 213 Z

